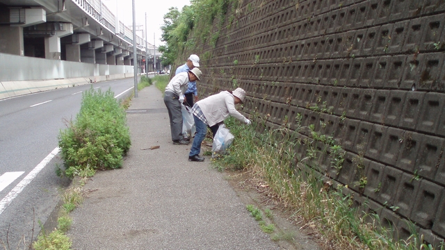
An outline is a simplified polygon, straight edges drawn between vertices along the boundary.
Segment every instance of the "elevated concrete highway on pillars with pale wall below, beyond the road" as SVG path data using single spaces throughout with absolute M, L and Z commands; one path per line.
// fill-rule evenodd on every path
M 154 55 L 102 0 L 0 0 L 0 99 L 131 77 L 135 56 L 150 72 Z

